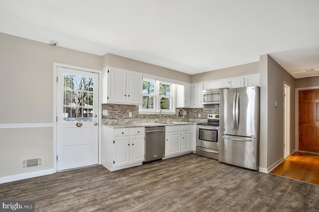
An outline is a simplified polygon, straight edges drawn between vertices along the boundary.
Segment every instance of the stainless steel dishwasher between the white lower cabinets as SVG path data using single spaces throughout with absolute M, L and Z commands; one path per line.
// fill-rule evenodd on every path
M 165 126 L 145 127 L 145 162 L 165 157 Z

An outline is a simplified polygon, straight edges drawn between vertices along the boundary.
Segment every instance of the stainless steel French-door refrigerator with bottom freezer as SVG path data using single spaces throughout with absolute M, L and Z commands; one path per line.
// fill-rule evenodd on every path
M 258 170 L 259 87 L 220 90 L 220 162 Z

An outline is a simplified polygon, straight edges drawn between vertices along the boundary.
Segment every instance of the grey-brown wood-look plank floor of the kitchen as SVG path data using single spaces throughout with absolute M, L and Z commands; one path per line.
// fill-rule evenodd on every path
M 319 186 L 183 155 L 110 172 L 87 167 L 0 185 L 35 211 L 318 211 Z

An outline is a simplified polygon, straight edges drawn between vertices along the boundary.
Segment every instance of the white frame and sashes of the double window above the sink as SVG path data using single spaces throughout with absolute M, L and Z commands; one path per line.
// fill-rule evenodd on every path
M 143 82 L 144 81 L 154 82 L 154 95 L 148 95 L 148 94 L 144 95 L 142 90 L 143 97 L 144 96 L 154 97 L 154 109 L 146 109 L 146 108 L 143 108 L 143 105 L 141 105 L 139 106 L 139 113 L 140 114 L 158 114 L 161 110 L 160 98 L 167 98 L 169 99 L 169 102 L 170 102 L 169 104 L 170 109 L 162 109 L 162 110 L 165 111 L 165 114 L 175 114 L 175 84 L 160 81 L 160 80 L 153 80 L 149 78 L 143 78 Z M 160 84 L 170 86 L 170 89 L 169 89 L 170 96 L 160 95 Z

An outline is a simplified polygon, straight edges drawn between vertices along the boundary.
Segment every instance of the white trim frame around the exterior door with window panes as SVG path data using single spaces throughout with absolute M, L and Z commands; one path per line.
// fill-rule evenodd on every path
M 98 140 L 98 148 L 99 148 L 99 164 L 102 164 L 102 156 L 101 156 L 101 148 L 102 148 L 102 140 L 101 140 L 101 135 L 102 135 L 102 71 L 100 70 L 95 70 L 95 69 L 88 69 L 88 68 L 83 68 L 83 67 L 78 67 L 78 66 L 71 66 L 71 65 L 66 65 L 66 64 L 61 64 L 61 63 L 53 63 L 53 173 L 57 172 L 57 71 L 58 67 L 63 67 L 63 68 L 68 68 L 68 69 L 75 69 L 79 71 L 85 71 L 85 72 L 92 72 L 92 73 L 97 73 L 99 74 L 99 90 L 98 90 L 98 111 L 99 111 L 99 119 L 98 119 L 98 126 L 99 126 L 99 140 Z

